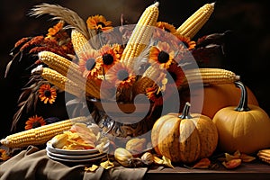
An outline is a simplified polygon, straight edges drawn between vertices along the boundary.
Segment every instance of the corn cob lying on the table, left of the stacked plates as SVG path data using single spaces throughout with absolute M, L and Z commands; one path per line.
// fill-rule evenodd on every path
M 29 145 L 41 145 L 64 130 L 69 130 L 76 122 L 86 121 L 85 116 L 76 117 L 64 121 L 54 122 L 31 130 L 24 130 L 11 134 L 1 139 L 2 145 L 8 148 L 23 148 Z

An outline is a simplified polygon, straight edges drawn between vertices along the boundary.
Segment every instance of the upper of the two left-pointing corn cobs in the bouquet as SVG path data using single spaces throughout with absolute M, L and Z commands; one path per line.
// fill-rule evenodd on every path
M 99 86 L 96 85 L 93 80 L 87 81 L 86 78 L 83 77 L 82 72 L 79 71 L 79 66 L 76 63 L 50 51 L 41 51 L 39 58 L 50 68 L 58 71 L 58 73 L 63 76 L 67 76 L 71 81 L 76 82 L 86 94 L 95 98 L 100 97 Z

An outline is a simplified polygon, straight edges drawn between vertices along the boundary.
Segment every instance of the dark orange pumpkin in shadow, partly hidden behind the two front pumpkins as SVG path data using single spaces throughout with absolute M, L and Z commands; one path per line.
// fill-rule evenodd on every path
M 211 119 L 221 108 L 238 105 L 238 100 L 241 96 L 241 91 L 233 83 L 204 85 L 203 89 L 193 90 L 192 98 L 190 97 L 189 89 L 185 89 L 180 93 L 181 109 L 184 107 L 183 102 L 191 102 L 193 104 L 192 112 L 200 112 Z M 247 101 L 250 104 L 258 105 L 255 94 L 248 87 Z

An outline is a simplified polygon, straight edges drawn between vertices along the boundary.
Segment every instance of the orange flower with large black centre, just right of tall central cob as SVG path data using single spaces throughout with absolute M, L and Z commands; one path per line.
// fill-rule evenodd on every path
M 174 62 L 175 51 L 166 42 L 157 42 L 157 46 L 149 50 L 149 62 L 159 64 L 160 68 L 168 68 Z

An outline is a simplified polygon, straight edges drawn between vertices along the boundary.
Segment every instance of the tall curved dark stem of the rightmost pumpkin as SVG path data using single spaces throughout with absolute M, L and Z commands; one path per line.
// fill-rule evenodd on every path
M 238 112 L 247 112 L 250 110 L 249 107 L 247 106 L 247 88 L 240 81 L 236 81 L 235 85 L 241 89 L 241 98 L 238 103 L 238 106 L 234 110 Z

